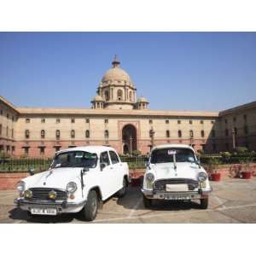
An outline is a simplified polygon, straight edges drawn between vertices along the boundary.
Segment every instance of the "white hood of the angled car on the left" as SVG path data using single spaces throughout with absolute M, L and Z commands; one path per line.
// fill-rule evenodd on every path
M 23 181 L 26 183 L 26 189 L 39 187 L 66 189 L 67 183 L 79 182 L 80 172 L 81 168 L 55 168 L 26 177 Z

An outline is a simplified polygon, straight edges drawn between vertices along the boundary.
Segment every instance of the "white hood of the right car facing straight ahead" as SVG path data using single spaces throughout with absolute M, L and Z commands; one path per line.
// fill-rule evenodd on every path
M 199 172 L 205 170 L 194 163 L 177 163 L 175 170 L 173 163 L 151 165 L 151 172 L 154 172 L 155 180 L 162 178 L 191 178 L 197 180 Z

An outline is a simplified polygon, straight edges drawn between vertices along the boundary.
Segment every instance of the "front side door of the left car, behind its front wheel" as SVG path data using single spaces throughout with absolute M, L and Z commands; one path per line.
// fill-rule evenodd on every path
M 104 167 L 102 168 L 102 165 Z M 115 182 L 113 180 L 113 166 L 110 162 L 108 151 L 102 152 L 100 155 L 100 166 L 101 166 L 101 184 L 103 199 L 107 199 L 110 195 L 115 193 Z

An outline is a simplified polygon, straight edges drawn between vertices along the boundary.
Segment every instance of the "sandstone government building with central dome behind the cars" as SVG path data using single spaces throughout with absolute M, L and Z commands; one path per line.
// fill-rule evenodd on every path
M 221 112 L 150 110 L 116 57 L 112 65 L 90 109 L 16 108 L 0 96 L 0 151 L 52 157 L 63 148 L 109 145 L 120 154 L 147 154 L 163 143 L 206 152 L 256 150 L 256 102 Z

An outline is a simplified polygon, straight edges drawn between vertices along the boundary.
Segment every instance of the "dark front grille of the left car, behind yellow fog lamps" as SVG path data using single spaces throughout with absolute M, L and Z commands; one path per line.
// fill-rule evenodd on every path
M 49 192 L 56 192 L 55 200 L 67 200 L 67 191 L 62 189 L 50 189 L 50 188 L 32 188 L 32 200 L 49 200 Z

